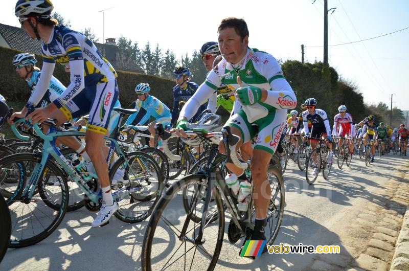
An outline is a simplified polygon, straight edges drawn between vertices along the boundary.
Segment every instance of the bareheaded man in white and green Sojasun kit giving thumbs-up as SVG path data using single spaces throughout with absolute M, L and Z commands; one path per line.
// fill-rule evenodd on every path
M 238 110 L 226 125 L 241 138 L 237 148 L 258 133 L 251 161 L 256 208 L 251 240 L 265 240 L 265 218 L 271 194 L 267 166 L 284 129 L 287 109 L 296 107 L 297 99 L 277 60 L 270 54 L 248 48 L 248 29 L 243 19 L 223 19 L 218 28 L 218 42 L 223 59 L 181 110 L 175 131 L 186 137 L 187 120 L 211 95 L 216 95 L 217 87 L 226 84 L 237 89 L 234 107 L 242 105 L 243 109 Z M 224 152 L 223 144 L 219 149 Z M 243 174 L 242 169 L 231 163 L 226 166 L 237 176 Z

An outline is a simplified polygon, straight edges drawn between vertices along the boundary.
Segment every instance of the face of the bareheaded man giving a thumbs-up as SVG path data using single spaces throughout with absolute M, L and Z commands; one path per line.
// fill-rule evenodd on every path
M 220 30 L 218 41 L 220 53 L 230 63 L 237 64 L 247 52 L 248 36 L 242 40 L 234 28 Z

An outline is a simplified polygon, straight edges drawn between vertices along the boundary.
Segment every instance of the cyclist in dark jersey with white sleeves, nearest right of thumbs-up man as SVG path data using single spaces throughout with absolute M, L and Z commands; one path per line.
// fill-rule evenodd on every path
M 310 139 L 311 148 L 313 149 L 316 147 L 318 140 L 320 140 L 321 138 L 327 139 L 327 162 L 332 163 L 331 128 L 329 126 L 327 113 L 322 109 L 315 108 L 315 98 L 308 98 L 304 104 L 307 108 L 307 110 L 303 112 L 305 137 L 308 137 Z M 308 128 L 308 121 L 310 121 L 312 124 L 311 131 Z M 313 175 L 316 175 L 317 170 L 319 169 L 313 169 Z

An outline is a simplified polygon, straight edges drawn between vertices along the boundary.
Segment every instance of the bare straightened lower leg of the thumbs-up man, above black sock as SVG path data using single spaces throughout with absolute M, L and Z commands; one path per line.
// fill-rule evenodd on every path
M 251 171 L 253 178 L 253 197 L 256 208 L 256 218 L 264 219 L 267 216 L 267 209 L 270 202 L 271 187 L 267 179 L 268 164 L 271 154 L 255 149 L 253 151 Z

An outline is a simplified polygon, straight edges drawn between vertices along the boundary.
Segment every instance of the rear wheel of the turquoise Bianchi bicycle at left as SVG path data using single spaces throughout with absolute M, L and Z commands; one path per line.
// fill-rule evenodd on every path
M 127 165 L 124 163 L 125 159 L 127 159 Z M 137 163 L 133 164 L 135 161 Z M 141 161 L 143 165 L 141 165 L 139 161 Z M 153 157 L 141 151 L 127 153 L 126 158 L 121 156 L 118 161 L 112 165 L 109 171 L 110 182 L 112 182 L 113 175 L 115 175 L 118 169 L 124 171 L 123 186 L 126 187 L 126 190 L 136 187 L 140 187 L 141 190 L 128 194 L 124 199 L 120 200 L 118 202 L 119 208 L 118 211 L 115 212 L 115 216 L 127 223 L 145 220 L 152 213 L 153 207 L 162 194 L 164 180 L 161 169 Z M 154 172 L 154 174 L 151 172 Z M 137 174 L 133 175 L 134 173 Z M 150 178 L 150 176 L 152 176 L 151 174 L 154 175 L 153 179 Z M 131 178 L 134 178 L 134 180 L 129 180 Z M 126 182 L 126 180 L 128 180 L 128 182 Z M 138 183 L 138 180 L 141 180 L 141 182 Z M 144 194 L 145 192 L 151 193 Z

